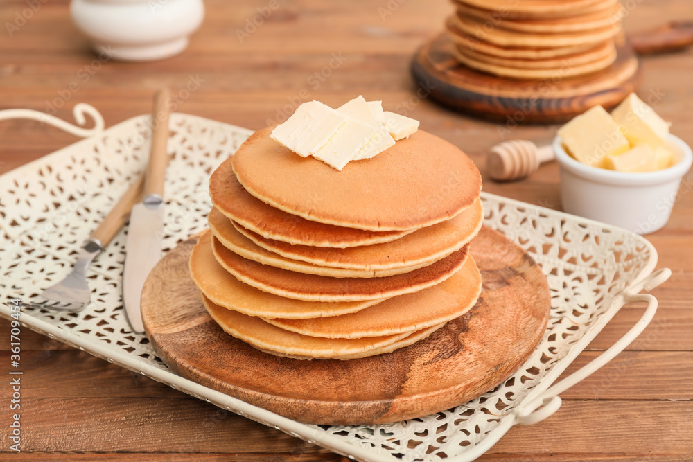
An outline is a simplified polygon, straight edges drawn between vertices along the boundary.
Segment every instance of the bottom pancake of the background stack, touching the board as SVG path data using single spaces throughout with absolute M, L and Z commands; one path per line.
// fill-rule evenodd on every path
M 606 69 L 616 60 L 616 51 L 614 49 L 613 53 L 610 55 L 588 64 L 572 65 L 570 62 L 566 62 L 564 66 L 557 69 L 519 69 L 516 67 L 498 66 L 497 64 L 477 61 L 468 57 L 462 49 L 453 48 L 453 53 L 459 62 L 472 69 L 477 69 L 478 71 L 484 71 L 493 75 L 519 79 L 554 79 L 585 75 L 587 73 Z

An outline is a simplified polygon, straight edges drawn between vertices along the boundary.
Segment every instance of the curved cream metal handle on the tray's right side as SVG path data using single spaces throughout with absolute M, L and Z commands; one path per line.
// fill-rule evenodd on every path
M 621 353 L 626 346 L 629 346 L 648 326 L 657 311 L 657 299 L 650 294 L 639 294 L 638 292 L 640 292 L 640 290 L 652 290 L 654 287 L 666 281 L 671 275 L 671 269 L 663 268 L 643 278 L 642 281 L 626 290 L 623 298 L 623 305 L 634 301 L 647 302 L 647 309 L 638 322 L 635 323 L 635 326 L 626 332 L 615 344 L 605 350 L 604 353 L 581 367 L 579 370 L 568 375 L 568 377 L 565 377 L 561 382 L 553 384 L 539 396 L 534 398 L 534 400 L 528 402 L 527 405 L 518 407 L 518 409 L 514 411 L 516 423 L 520 425 L 532 425 L 554 414 L 554 412 L 558 411 L 559 407 L 561 407 L 562 401 L 559 396 L 560 393 L 563 393 L 563 391 L 569 389 L 574 384 L 581 382 L 581 380 L 595 373 L 599 368 L 604 366 L 604 364 Z

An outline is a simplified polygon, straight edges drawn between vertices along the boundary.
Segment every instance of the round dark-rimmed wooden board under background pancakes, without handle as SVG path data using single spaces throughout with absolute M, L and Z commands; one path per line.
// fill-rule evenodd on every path
M 617 44 L 617 54 L 608 68 L 580 77 L 502 78 L 457 62 L 452 39 L 441 34 L 416 52 L 412 73 L 439 103 L 513 128 L 522 123 L 562 123 L 595 105 L 611 109 L 620 103 L 635 91 L 640 72 L 629 44 Z

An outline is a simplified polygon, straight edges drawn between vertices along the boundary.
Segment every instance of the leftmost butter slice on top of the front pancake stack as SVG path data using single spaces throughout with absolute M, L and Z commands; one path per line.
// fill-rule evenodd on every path
M 308 101 L 297 107 L 286 122 L 274 127 L 270 138 L 299 156 L 308 157 L 322 148 L 344 123 L 344 114 L 319 101 Z

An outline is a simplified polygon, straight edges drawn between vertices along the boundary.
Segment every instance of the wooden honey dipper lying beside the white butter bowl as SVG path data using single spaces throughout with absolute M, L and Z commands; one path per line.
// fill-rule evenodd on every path
M 537 148 L 532 141 L 504 141 L 486 154 L 486 172 L 497 181 L 524 178 L 541 163 L 555 159 L 552 145 Z

